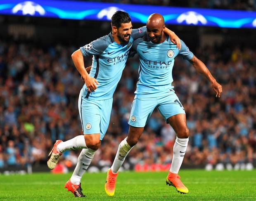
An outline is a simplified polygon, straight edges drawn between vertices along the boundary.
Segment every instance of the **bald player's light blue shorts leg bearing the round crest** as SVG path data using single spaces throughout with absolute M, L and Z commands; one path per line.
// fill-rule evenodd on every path
M 135 98 L 131 106 L 128 124 L 133 127 L 144 127 L 156 105 L 156 98 Z

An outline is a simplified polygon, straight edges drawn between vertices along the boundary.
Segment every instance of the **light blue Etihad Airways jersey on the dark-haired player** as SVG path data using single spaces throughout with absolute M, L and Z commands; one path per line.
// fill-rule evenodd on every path
M 88 92 L 83 85 L 83 97 L 95 100 L 105 100 L 113 97 L 116 86 L 122 76 L 130 48 L 133 41 L 147 34 L 146 26 L 133 29 L 127 43 L 118 44 L 114 41 L 111 33 L 91 43 L 80 47 L 84 57 L 92 57 L 90 76 L 95 78 L 99 85 L 95 92 Z

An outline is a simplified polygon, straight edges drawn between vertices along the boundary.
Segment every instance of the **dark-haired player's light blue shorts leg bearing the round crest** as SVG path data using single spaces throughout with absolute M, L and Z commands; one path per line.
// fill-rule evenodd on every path
M 81 98 L 81 99 L 80 99 Z M 79 115 L 81 118 L 83 134 L 100 133 L 100 107 L 94 100 L 79 96 L 78 101 Z M 96 102 L 97 103 L 97 102 Z

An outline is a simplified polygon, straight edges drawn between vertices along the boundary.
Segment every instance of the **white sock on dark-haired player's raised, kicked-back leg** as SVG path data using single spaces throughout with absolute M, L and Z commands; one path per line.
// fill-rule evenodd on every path
M 84 148 L 87 149 L 83 135 L 78 135 L 71 140 L 61 142 L 57 145 L 57 151 L 59 151 L 59 153 L 63 153 L 66 150 L 77 150 Z

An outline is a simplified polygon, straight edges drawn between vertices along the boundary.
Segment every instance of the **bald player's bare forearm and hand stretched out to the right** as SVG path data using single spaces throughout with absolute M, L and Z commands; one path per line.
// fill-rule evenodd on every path
M 197 72 L 203 74 L 211 82 L 211 87 L 216 92 L 216 97 L 220 97 L 220 94 L 222 92 L 222 87 L 215 80 L 215 78 L 213 78 L 213 76 L 211 75 L 207 67 L 204 65 L 204 63 L 200 59 L 197 59 L 196 56 L 192 57 L 192 59 L 190 60 L 190 63 L 194 66 Z

